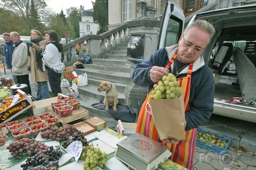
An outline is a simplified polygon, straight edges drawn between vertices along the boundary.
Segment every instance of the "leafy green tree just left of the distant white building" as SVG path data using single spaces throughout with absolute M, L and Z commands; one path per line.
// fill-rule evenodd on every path
M 75 38 L 79 37 L 79 21 L 81 21 L 81 14 L 78 8 L 69 7 L 67 9 L 67 20 L 70 21 L 71 25 L 74 27 Z

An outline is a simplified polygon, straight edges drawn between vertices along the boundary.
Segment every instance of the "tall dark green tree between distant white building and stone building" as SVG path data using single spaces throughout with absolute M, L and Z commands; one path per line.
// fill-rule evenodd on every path
M 93 3 L 92 18 L 95 24 L 99 25 L 97 35 L 108 30 L 108 0 L 95 0 Z

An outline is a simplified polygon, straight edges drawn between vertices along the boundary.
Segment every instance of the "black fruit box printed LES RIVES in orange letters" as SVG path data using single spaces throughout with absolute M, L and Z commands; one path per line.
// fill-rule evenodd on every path
M 33 106 L 33 102 L 29 99 L 25 92 L 23 92 L 20 89 L 17 89 L 17 91 L 20 94 L 22 94 L 25 98 L 20 101 L 17 101 L 16 104 L 0 113 L 0 124 L 2 122 L 6 123 L 12 120 L 14 117 L 20 115 L 21 113 L 23 113 L 24 111 L 28 110 L 30 107 Z

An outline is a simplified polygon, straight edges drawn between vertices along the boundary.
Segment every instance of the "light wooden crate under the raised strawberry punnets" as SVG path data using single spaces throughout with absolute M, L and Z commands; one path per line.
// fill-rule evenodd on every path
M 63 127 L 67 126 L 67 123 L 82 119 L 86 117 L 89 119 L 89 111 L 80 107 L 79 109 L 73 110 L 72 115 L 67 116 L 67 117 L 60 117 L 59 114 L 55 113 L 55 111 L 52 109 L 52 106 L 47 106 L 46 111 L 49 113 L 55 115 L 59 121 L 62 123 Z

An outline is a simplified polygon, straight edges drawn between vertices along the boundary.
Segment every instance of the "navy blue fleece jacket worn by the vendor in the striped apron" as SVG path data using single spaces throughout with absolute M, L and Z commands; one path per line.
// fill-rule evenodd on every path
M 169 58 L 172 57 L 169 56 L 168 58 L 168 55 L 170 54 L 168 54 L 167 50 L 161 48 L 150 55 L 149 59 L 141 64 L 137 64 L 132 72 L 132 82 L 140 86 L 149 86 L 149 93 L 154 85 L 154 82 L 149 76 L 151 67 L 155 65 L 165 67 L 169 62 Z M 177 78 L 185 76 L 187 76 L 187 73 L 180 74 Z M 203 64 L 192 72 L 189 96 L 190 110 L 185 113 L 185 120 L 187 122 L 186 131 L 197 128 L 211 116 L 214 103 L 214 83 L 212 71 L 206 64 Z

